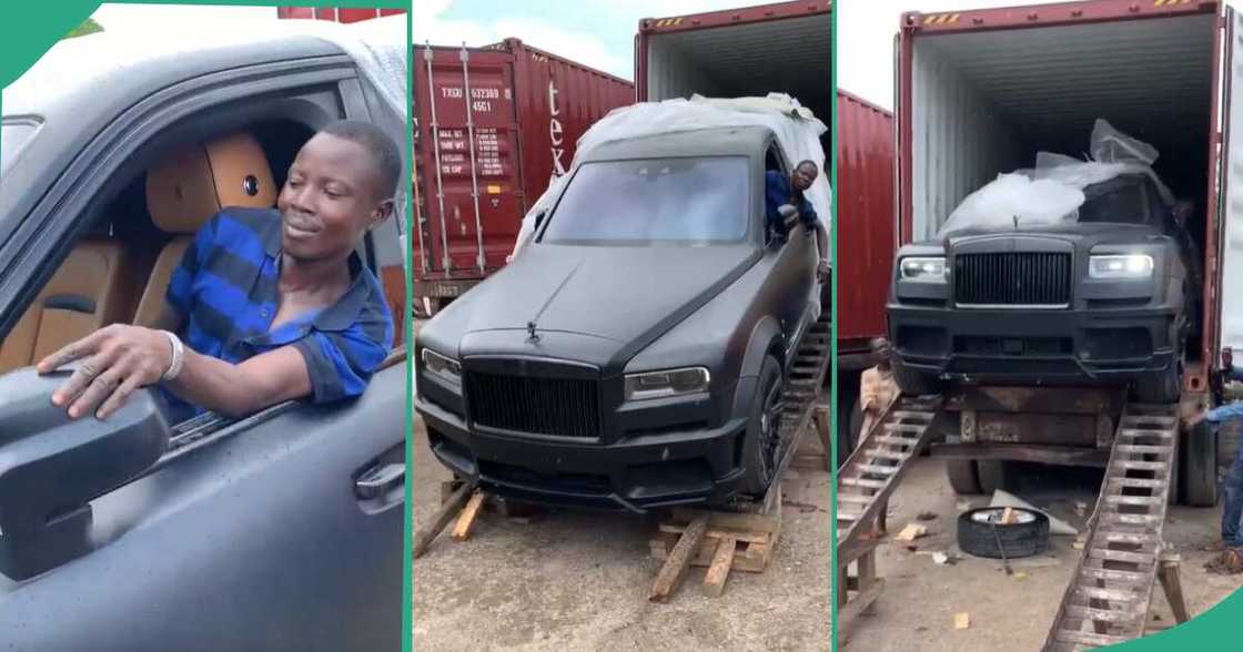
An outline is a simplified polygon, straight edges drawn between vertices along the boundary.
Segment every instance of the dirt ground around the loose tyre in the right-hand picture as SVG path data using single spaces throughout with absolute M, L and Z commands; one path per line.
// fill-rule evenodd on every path
M 915 462 L 890 500 L 890 537 L 880 546 L 878 574 L 885 589 L 875 614 L 863 616 L 845 630 L 842 650 L 866 652 L 975 652 L 1038 650 L 1048 633 L 1079 550 L 1073 537 L 1053 537 L 1050 554 L 1017 560 L 1014 576 L 1001 561 L 962 555 L 953 546 L 958 503 L 982 507 L 986 497 L 957 497 L 945 476 L 945 463 L 924 457 Z M 1100 469 L 1024 467 L 1016 473 L 1012 493 L 1081 528 L 1090 515 L 1100 487 Z M 1084 503 L 1084 515 L 1075 503 Z M 930 535 L 917 539 L 919 551 L 948 550 L 963 556 L 953 565 L 936 565 L 931 555 L 911 553 L 891 541 L 922 512 L 936 514 Z M 1212 556 L 1201 550 L 1218 539 L 1219 509 L 1176 507 L 1168 513 L 1165 539 L 1183 559 L 1182 585 L 1192 616 L 1212 607 L 1243 586 L 1243 576 L 1209 575 L 1203 564 Z M 1019 577 L 1018 574 L 1025 574 Z M 970 614 L 967 630 L 953 628 L 953 615 Z M 1173 620 L 1157 585 L 1151 612 L 1160 625 Z

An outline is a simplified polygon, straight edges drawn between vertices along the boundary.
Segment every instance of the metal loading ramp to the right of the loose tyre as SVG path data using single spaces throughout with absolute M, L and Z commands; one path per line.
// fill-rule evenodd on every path
M 1089 520 L 1084 555 L 1062 597 L 1044 642 L 1045 652 L 1100 647 L 1144 636 L 1154 581 L 1162 565 L 1161 532 L 1177 441 L 1176 405 L 1124 407 Z

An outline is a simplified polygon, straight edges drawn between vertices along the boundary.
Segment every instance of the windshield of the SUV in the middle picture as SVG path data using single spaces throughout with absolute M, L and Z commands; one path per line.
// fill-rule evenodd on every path
M 747 159 L 587 163 L 548 217 L 542 242 L 737 242 L 747 233 Z

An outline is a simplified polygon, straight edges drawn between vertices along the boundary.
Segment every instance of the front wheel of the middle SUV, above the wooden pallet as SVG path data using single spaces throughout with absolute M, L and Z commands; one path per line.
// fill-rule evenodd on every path
M 781 364 L 772 355 L 766 355 L 742 443 L 742 491 L 748 494 L 758 496 L 768 491 L 777 472 L 781 415 L 786 409 L 783 391 Z

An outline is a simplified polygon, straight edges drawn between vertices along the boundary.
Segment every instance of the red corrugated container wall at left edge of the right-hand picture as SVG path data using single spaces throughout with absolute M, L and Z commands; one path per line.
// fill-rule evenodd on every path
M 885 297 L 897 241 L 894 115 L 838 91 L 838 349 L 885 334 Z

